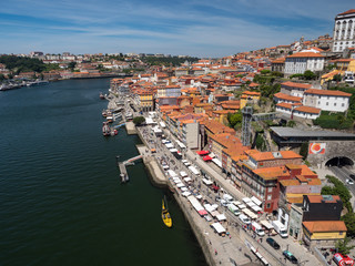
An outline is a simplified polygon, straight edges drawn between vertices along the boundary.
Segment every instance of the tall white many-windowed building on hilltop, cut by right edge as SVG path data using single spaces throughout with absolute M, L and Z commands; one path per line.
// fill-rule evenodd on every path
M 333 52 L 355 47 L 355 9 L 335 17 L 333 37 Z

